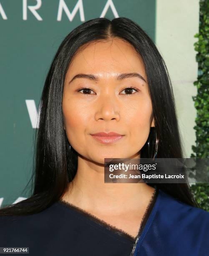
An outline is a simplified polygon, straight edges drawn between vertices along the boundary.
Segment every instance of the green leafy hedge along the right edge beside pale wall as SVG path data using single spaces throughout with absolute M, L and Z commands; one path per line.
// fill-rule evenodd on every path
M 194 82 L 197 87 L 197 95 L 193 96 L 194 106 L 197 110 L 196 146 L 192 146 L 194 154 L 191 157 L 209 157 L 209 0 L 200 0 L 199 33 L 194 35 L 198 41 L 194 43 L 197 51 L 198 77 Z M 196 201 L 200 207 L 209 211 L 209 184 L 196 183 L 191 185 Z

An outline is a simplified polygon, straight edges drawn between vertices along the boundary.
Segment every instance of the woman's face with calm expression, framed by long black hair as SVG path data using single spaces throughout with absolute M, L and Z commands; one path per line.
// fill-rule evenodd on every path
M 121 75 L 130 73 L 142 78 Z M 91 76 L 73 79 L 77 74 Z M 104 158 L 140 157 L 154 126 L 148 84 L 143 78 L 147 81 L 136 50 L 119 38 L 91 42 L 74 56 L 65 77 L 62 104 L 66 135 L 78 154 L 100 164 Z M 102 143 L 92 136 L 100 132 L 123 136 Z

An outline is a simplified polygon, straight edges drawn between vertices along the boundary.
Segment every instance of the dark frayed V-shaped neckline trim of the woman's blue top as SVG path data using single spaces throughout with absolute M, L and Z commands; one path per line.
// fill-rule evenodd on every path
M 128 239 L 129 241 L 131 241 L 132 243 L 135 243 L 135 245 L 136 245 L 136 242 L 138 241 L 139 237 L 141 236 L 144 228 L 146 227 L 146 225 L 149 221 L 149 218 L 151 216 L 154 206 L 156 205 L 158 197 L 159 197 L 159 189 L 156 188 L 155 191 L 153 192 L 153 195 L 149 201 L 149 204 L 147 205 L 147 208 L 144 212 L 143 218 L 141 220 L 141 225 L 138 230 L 138 235 L 136 237 L 131 236 L 130 234 L 126 233 L 126 231 L 116 228 L 115 226 L 107 223 L 104 220 L 101 220 L 100 218 L 96 217 L 95 215 L 91 214 L 90 212 L 87 212 L 86 210 L 83 210 L 82 208 L 77 207 L 76 205 L 73 205 L 70 202 L 67 202 L 65 200 L 58 200 L 57 202 L 59 205 L 63 205 L 63 206 L 65 206 L 65 208 L 68 208 L 68 209 L 78 212 L 79 214 L 85 216 L 86 218 L 93 221 L 94 223 L 97 223 L 97 224 L 101 225 L 102 227 L 107 228 L 108 230 L 112 231 L 113 233 L 115 233 L 119 236 L 122 236 L 123 238 Z

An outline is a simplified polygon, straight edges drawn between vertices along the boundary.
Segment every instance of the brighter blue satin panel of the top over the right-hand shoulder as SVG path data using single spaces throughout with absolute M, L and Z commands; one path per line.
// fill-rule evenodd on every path
M 159 189 L 134 256 L 209 256 L 209 212 Z

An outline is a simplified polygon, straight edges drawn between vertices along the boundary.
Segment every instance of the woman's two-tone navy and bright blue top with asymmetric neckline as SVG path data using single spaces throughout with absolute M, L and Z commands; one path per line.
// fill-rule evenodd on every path
M 209 256 L 209 212 L 161 189 L 150 209 L 134 239 L 58 201 L 33 215 L 0 216 L 0 247 L 29 247 L 30 256 Z

